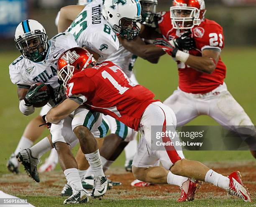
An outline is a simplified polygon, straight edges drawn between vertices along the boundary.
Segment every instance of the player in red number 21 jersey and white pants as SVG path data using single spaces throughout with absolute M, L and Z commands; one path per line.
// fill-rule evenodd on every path
M 209 115 L 220 125 L 253 135 L 251 119 L 224 82 L 226 66 L 220 58 L 223 28 L 206 19 L 205 12 L 204 0 L 174 0 L 170 12 L 162 13 L 159 29 L 165 39 L 157 39 L 154 44 L 177 61 L 179 70 L 179 87 L 164 104 L 174 110 L 177 126 L 199 115 Z M 191 43 L 191 38 L 195 45 L 189 49 L 185 40 Z M 178 39 L 183 44 L 177 46 Z M 249 146 L 250 140 L 246 140 Z M 255 151 L 251 153 L 256 158 Z

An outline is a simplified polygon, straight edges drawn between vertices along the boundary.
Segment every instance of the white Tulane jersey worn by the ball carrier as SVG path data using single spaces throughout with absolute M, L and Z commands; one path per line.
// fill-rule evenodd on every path
M 78 47 L 77 41 L 70 33 L 59 33 L 48 41 L 46 58 L 41 62 L 33 62 L 19 56 L 9 66 L 10 79 L 19 88 L 29 88 L 32 84 L 42 82 L 53 89 L 49 104 L 55 106 L 64 100 L 65 91 L 57 77 L 57 61 L 67 49 Z

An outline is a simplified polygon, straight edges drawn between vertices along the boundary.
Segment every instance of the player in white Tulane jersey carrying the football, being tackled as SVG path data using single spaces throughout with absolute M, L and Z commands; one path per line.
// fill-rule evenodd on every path
M 34 112 L 33 104 L 38 100 L 48 98 L 43 92 L 37 92 L 38 87 L 31 91 L 30 86 L 36 82 L 47 83 L 51 91 L 49 105 L 59 104 L 66 97 L 62 82 L 59 82 L 57 78 L 56 61 L 63 51 L 72 46 L 78 46 L 74 36 L 70 33 L 59 33 L 47 41 L 45 29 L 40 23 L 36 20 L 24 20 L 16 28 L 15 41 L 22 56 L 10 64 L 10 78 L 14 84 L 18 85 L 20 111 L 25 115 L 30 115 Z M 77 54 L 69 54 L 67 58 L 72 62 L 77 58 Z M 88 123 L 84 125 L 86 120 Z M 80 108 L 68 118 L 51 126 L 52 142 L 59 154 L 60 164 L 67 181 L 74 192 L 64 203 L 88 201 L 87 192 L 84 191 L 79 177 L 77 163 L 71 152 L 71 148 L 78 143 L 78 139 L 83 153 L 87 159 L 90 158 L 89 163 L 93 162 L 90 164 L 95 174 L 95 180 L 98 180 L 92 195 L 94 197 L 102 196 L 107 190 L 108 181 L 102 170 L 100 154 L 94 137 L 99 137 L 97 128 L 101 122 L 101 114 L 91 113 L 87 109 Z M 32 148 L 17 154 L 18 161 L 24 165 L 28 174 L 37 182 L 40 181 L 36 170 L 38 158 L 50 148 L 52 148 L 51 142 L 45 138 Z

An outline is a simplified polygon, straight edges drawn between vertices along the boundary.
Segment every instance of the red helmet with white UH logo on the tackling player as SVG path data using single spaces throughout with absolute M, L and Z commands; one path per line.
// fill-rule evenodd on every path
M 94 66 L 95 63 L 92 54 L 84 48 L 74 47 L 66 50 L 58 59 L 58 78 L 63 81 L 63 86 L 67 88 L 67 84 L 74 74 Z

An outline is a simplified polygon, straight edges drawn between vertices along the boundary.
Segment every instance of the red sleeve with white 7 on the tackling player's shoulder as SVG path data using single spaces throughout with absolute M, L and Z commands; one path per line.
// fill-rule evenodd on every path
M 94 95 L 95 84 L 86 76 L 72 77 L 70 79 L 66 94 L 67 98 L 82 104 L 87 101 L 88 97 Z

